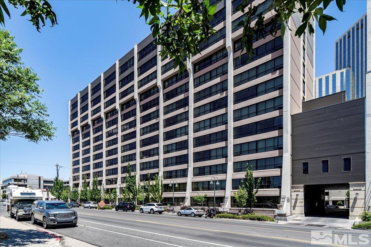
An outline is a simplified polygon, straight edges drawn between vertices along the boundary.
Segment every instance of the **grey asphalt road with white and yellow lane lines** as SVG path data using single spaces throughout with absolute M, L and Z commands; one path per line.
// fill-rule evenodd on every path
M 259 221 L 230 221 L 88 208 L 74 209 L 78 212 L 78 226 L 50 230 L 99 247 L 313 247 L 323 245 L 311 244 L 311 230 L 344 231 L 336 228 Z M 9 216 L 3 206 L 0 207 L 0 214 Z M 42 226 L 41 223 L 39 224 Z M 360 234 L 366 233 L 362 242 L 369 241 L 365 246 L 371 246 L 371 232 L 346 231 L 348 234 L 352 233 L 351 239 L 354 242 L 359 241 Z M 342 234 L 340 233 L 340 237 Z M 314 233 L 312 236 L 320 239 L 322 234 Z M 331 246 L 350 246 L 348 241 L 349 238 L 342 242 L 344 245 L 332 244 Z

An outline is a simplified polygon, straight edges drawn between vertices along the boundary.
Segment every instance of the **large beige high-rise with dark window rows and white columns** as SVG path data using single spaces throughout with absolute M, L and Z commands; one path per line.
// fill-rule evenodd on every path
M 252 2 L 266 19 L 271 3 Z M 151 34 L 69 101 L 72 187 L 83 177 L 122 187 L 130 163 L 138 183 L 147 174 L 163 177 L 162 203 L 172 203 L 175 179 L 175 204 L 192 204 L 201 192 L 210 205 L 217 177 L 216 206 L 233 207 L 249 163 L 262 178 L 256 207 L 289 201 L 291 114 L 313 99 L 314 36 L 295 36 L 301 17 L 293 14 L 283 40 L 267 30 L 248 60 L 237 26 L 244 16 L 233 11 L 238 4 L 217 1 L 216 34 L 200 44 L 186 71 L 161 59 Z

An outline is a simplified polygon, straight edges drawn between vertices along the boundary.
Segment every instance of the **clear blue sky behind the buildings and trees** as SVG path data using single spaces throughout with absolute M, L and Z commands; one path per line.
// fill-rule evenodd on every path
M 0 179 L 20 173 L 47 178 L 70 176 L 68 100 L 96 79 L 116 59 L 132 49 L 148 34 L 150 27 L 139 19 L 140 10 L 128 1 L 50 1 L 58 25 L 46 25 L 38 33 L 21 9 L 10 7 L 12 19 L 5 28 L 23 47 L 22 61 L 39 75 L 42 101 L 49 108 L 50 120 L 58 127 L 49 142 L 31 143 L 19 137 L 0 142 Z M 338 21 L 327 24 L 327 31 L 316 27 L 316 76 L 334 70 L 334 41 L 366 12 L 365 0 L 347 1 L 345 12 L 331 3 L 325 13 Z

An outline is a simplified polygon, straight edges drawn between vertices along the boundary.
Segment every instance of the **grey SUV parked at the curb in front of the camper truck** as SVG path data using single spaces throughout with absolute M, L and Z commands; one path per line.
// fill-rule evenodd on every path
M 31 224 L 43 223 L 46 229 L 50 226 L 76 226 L 77 212 L 62 201 L 37 201 L 31 207 Z

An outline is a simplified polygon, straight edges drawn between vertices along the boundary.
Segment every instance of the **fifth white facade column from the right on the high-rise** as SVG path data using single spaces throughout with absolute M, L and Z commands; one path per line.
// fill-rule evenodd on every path
M 139 164 L 139 146 L 140 146 L 140 108 L 139 108 L 139 95 L 138 95 L 138 45 L 134 45 L 134 99 L 137 101 L 137 127 L 136 127 L 136 154 L 135 154 L 135 170 L 137 173 L 137 184 L 139 183 L 139 170 L 140 170 L 140 164 Z

